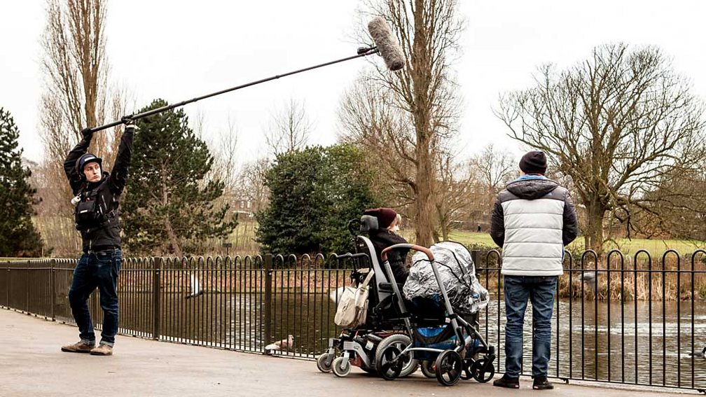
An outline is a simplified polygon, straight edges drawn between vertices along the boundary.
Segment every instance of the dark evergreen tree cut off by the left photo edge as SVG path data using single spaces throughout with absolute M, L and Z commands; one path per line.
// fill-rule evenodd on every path
M 20 133 L 9 112 L 0 107 L 0 256 L 40 256 L 42 237 L 32 224 L 36 189 L 22 166 Z

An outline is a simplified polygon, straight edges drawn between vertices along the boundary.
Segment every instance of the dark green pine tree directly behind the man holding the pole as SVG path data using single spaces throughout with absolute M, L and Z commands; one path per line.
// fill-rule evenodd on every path
M 166 105 L 155 100 L 140 112 Z M 184 256 L 203 239 L 232 232 L 236 221 L 226 219 L 229 206 L 215 206 L 224 184 L 205 178 L 213 156 L 189 128 L 184 112 L 155 114 L 138 126 L 123 201 L 128 249 Z

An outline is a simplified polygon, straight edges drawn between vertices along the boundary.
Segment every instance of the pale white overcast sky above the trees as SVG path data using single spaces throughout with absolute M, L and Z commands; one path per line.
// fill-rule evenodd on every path
M 455 66 L 465 100 L 463 154 L 488 143 L 517 153 L 493 116 L 498 94 L 527 88 L 537 66 L 562 68 L 606 42 L 657 45 L 674 69 L 706 98 L 706 1 L 475 1 L 460 0 L 467 20 L 462 58 Z M 354 55 L 350 42 L 355 0 L 109 1 L 107 54 L 112 82 L 124 86 L 136 109 L 161 97 L 187 100 L 260 78 Z M 20 129 L 20 147 L 42 160 L 37 132 L 42 91 L 40 35 L 44 1 L 0 1 L 0 107 Z M 378 59 L 378 61 L 382 61 Z M 304 102 L 315 123 L 311 143 L 335 142 L 343 90 L 366 67 L 355 59 L 213 97 L 184 109 L 205 121 L 217 141 L 230 120 L 239 131 L 238 155 L 266 152 L 263 130 L 290 98 Z

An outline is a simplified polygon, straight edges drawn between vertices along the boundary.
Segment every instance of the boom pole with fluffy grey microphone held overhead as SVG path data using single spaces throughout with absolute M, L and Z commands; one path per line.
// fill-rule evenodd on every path
M 126 124 L 128 122 L 133 122 L 134 120 L 142 119 L 143 117 L 152 116 L 152 114 L 157 114 L 157 113 L 165 112 L 167 110 L 175 109 L 177 107 L 181 107 L 181 106 L 187 105 L 189 103 L 196 102 L 198 100 L 203 100 L 203 99 L 209 98 L 209 97 L 215 97 L 216 95 L 229 93 L 234 90 L 239 90 L 241 88 L 250 87 L 251 85 L 258 85 L 260 83 L 265 83 L 265 81 L 275 80 L 275 78 L 291 76 L 292 74 L 301 73 L 303 71 L 310 71 L 312 69 L 318 69 L 323 66 L 337 64 L 342 61 L 349 61 L 350 59 L 366 57 L 366 56 L 372 55 L 372 54 L 380 54 L 380 56 L 383 57 L 383 60 L 385 61 L 385 65 L 387 65 L 388 69 L 390 69 L 391 71 L 398 71 L 398 70 L 402 69 L 402 67 L 405 66 L 405 55 L 402 52 L 402 48 L 400 48 L 400 45 L 398 45 L 397 42 L 395 42 L 395 40 L 393 40 L 392 32 L 390 32 L 390 28 L 388 28 L 388 25 L 387 25 L 387 23 L 385 23 L 385 20 L 379 16 L 376 18 L 373 18 L 373 20 L 371 20 L 370 23 L 368 24 L 368 31 L 370 32 L 371 37 L 373 37 L 373 41 L 375 42 L 376 47 L 360 47 L 357 51 L 357 55 L 353 55 L 352 57 L 337 59 L 335 61 L 326 62 L 324 64 L 309 66 L 308 68 L 299 69 L 296 71 L 290 71 L 290 72 L 284 73 L 284 74 L 278 74 L 277 76 L 263 78 L 263 79 L 257 80 L 257 81 L 251 81 L 250 83 L 245 83 L 245 84 L 237 85 L 235 87 L 226 88 L 225 90 L 220 90 L 220 91 L 216 91 L 215 93 L 201 95 L 200 97 L 194 97 L 194 98 L 191 98 L 190 100 L 184 100 L 181 102 L 173 103 L 172 105 L 166 105 L 166 106 L 159 107 L 157 109 L 148 110 L 146 112 L 142 112 L 142 113 L 138 113 L 138 114 L 129 114 L 128 116 L 124 116 L 122 119 L 120 119 L 116 122 L 104 124 L 102 126 L 91 127 L 89 130 L 91 132 L 95 132 L 95 131 L 100 131 L 102 129 L 109 129 L 110 127 L 119 126 L 120 124 Z

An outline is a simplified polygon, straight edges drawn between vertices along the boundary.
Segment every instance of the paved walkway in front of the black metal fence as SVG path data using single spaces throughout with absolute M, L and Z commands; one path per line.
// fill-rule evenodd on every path
M 358 368 L 346 378 L 322 374 L 313 361 L 155 342 L 118 336 L 115 355 L 97 357 L 59 350 L 78 340 L 73 326 L 0 309 L 0 396 L 674 396 L 657 392 L 555 383 L 533 391 L 520 379 L 510 391 L 460 381 L 444 387 L 421 373 L 385 381 Z M 497 375 L 496 375 L 497 377 Z

